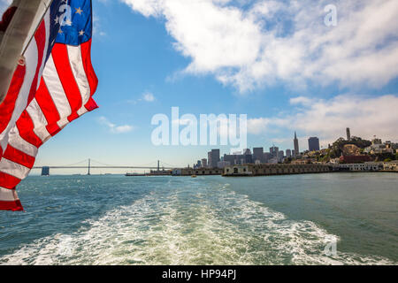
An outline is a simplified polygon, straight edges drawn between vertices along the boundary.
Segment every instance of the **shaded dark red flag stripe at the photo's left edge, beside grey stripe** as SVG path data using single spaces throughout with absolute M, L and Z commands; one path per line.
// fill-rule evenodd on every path
M 10 88 L 8 89 L 4 102 L 0 104 L 0 133 L 3 133 L 4 129 L 10 123 L 20 88 L 24 82 L 26 71 L 27 68 L 25 65 L 17 65 L 17 69 L 12 76 Z

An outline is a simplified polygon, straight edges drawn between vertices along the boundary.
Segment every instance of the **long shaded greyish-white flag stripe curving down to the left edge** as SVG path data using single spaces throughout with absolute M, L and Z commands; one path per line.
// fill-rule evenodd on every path
M 19 119 L 20 114 L 27 108 L 27 97 L 29 96 L 30 87 L 32 86 L 34 75 L 36 73 L 37 61 L 38 61 L 38 51 L 35 40 L 29 44 L 27 48 L 27 52 L 25 53 L 26 57 L 26 74 L 24 81 L 22 83 L 22 87 L 19 90 L 18 98 L 15 102 L 15 108 L 12 112 L 12 116 L 10 122 L 7 127 L 4 129 L 3 133 L 0 134 L 0 145 L 3 149 L 5 149 L 8 143 L 8 133 L 11 130 L 11 127 L 15 125 L 17 120 Z

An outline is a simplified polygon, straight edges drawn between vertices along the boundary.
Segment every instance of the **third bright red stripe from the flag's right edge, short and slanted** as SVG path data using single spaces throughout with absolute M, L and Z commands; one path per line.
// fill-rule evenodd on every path
M 47 131 L 54 135 L 53 133 L 59 132 L 60 128 L 57 125 L 57 121 L 59 121 L 60 116 L 57 110 L 57 107 L 50 96 L 49 88 L 45 81 L 42 79 L 40 82 L 40 87 L 37 90 L 36 96 L 34 96 L 37 103 L 44 114 L 45 119 L 47 120 Z

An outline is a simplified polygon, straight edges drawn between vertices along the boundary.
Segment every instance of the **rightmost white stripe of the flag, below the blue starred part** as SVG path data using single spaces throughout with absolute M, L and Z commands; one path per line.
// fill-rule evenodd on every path
M 82 105 L 86 105 L 86 103 L 88 103 L 88 99 L 90 98 L 90 85 L 88 84 L 87 74 L 84 70 L 80 45 L 67 45 L 67 49 L 73 76 L 80 90 Z

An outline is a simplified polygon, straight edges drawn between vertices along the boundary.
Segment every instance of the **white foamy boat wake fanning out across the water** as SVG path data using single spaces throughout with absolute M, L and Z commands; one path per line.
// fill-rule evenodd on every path
M 396 264 L 338 246 L 326 256 L 327 241 L 337 236 L 228 187 L 151 192 L 88 219 L 88 228 L 21 246 L 0 264 Z

